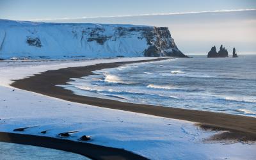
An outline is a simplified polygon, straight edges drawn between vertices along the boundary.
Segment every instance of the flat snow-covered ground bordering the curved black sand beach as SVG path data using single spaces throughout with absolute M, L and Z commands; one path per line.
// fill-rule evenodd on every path
M 78 131 L 68 139 L 76 141 L 84 134 L 90 135 L 90 143 L 125 148 L 150 159 L 255 158 L 255 144 L 203 143 L 202 140 L 214 132 L 202 131 L 192 122 L 77 104 L 8 87 L 10 79 L 49 69 L 125 60 L 134 59 L 72 63 L 1 62 L 0 131 L 13 132 L 19 127 L 30 127 L 21 133 L 56 138 L 60 132 Z M 45 130 L 46 134 L 40 133 Z

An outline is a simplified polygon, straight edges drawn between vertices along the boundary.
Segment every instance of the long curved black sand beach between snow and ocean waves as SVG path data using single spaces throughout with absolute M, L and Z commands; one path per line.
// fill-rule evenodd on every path
M 144 113 L 147 115 L 162 116 L 166 118 L 175 118 L 180 120 L 188 120 L 202 124 L 212 125 L 214 127 L 223 127 L 232 131 L 246 132 L 256 136 L 256 118 L 249 116 L 229 115 L 225 113 L 214 113 L 210 111 L 197 111 L 191 109 L 167 108 L 161 106 L 153 106 L 147 104 L 132 104 L 129 102 L 120 102 L 111 99 L 100 99 L 96 97 L 86 97 L 75 95 L 70 90 L 56 85 L 67 84 L 70 78 L 79 78 L 93 74 L 94 70 L 104 68 L 115 68 L 120 65 L 140 63 L 146 61 L 159 61 L 168 58 L 155 60 L 126 61 L 116 63 L 100 63 L 86 67 L 70 67 L 59 70 L 48 70 L 42 74 L 19 79 L 12 86 L 22 90 L 41 93 L 58 99 L 68 100 L 71 102 L 79 102 L 82 104 L 90 104 L 102 108 L 120 109 L 136 113 Z

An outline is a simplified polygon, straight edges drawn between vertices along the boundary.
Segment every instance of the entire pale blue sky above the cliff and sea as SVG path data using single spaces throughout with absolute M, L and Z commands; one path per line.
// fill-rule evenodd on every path
M 167 26 L 186 54 L 256 54 L 256 0 L 0 0 L 0 19 Z

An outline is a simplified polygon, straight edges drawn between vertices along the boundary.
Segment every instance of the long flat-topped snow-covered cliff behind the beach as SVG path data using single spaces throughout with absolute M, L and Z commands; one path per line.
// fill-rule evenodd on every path
M 0 20 L 0 58 L 179 56 L 168 28 Z

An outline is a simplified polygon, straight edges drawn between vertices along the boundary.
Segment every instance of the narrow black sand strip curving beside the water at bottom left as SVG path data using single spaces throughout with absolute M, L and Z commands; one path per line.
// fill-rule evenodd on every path
M 64 150 L 75 154 L 81 154 L 90 159 L 147 159 L 120 148 L 104 147 L 92 143 L 63 140 L 46 136 L 35 136 L 31 134 L 0 132 L 0 141 Z

